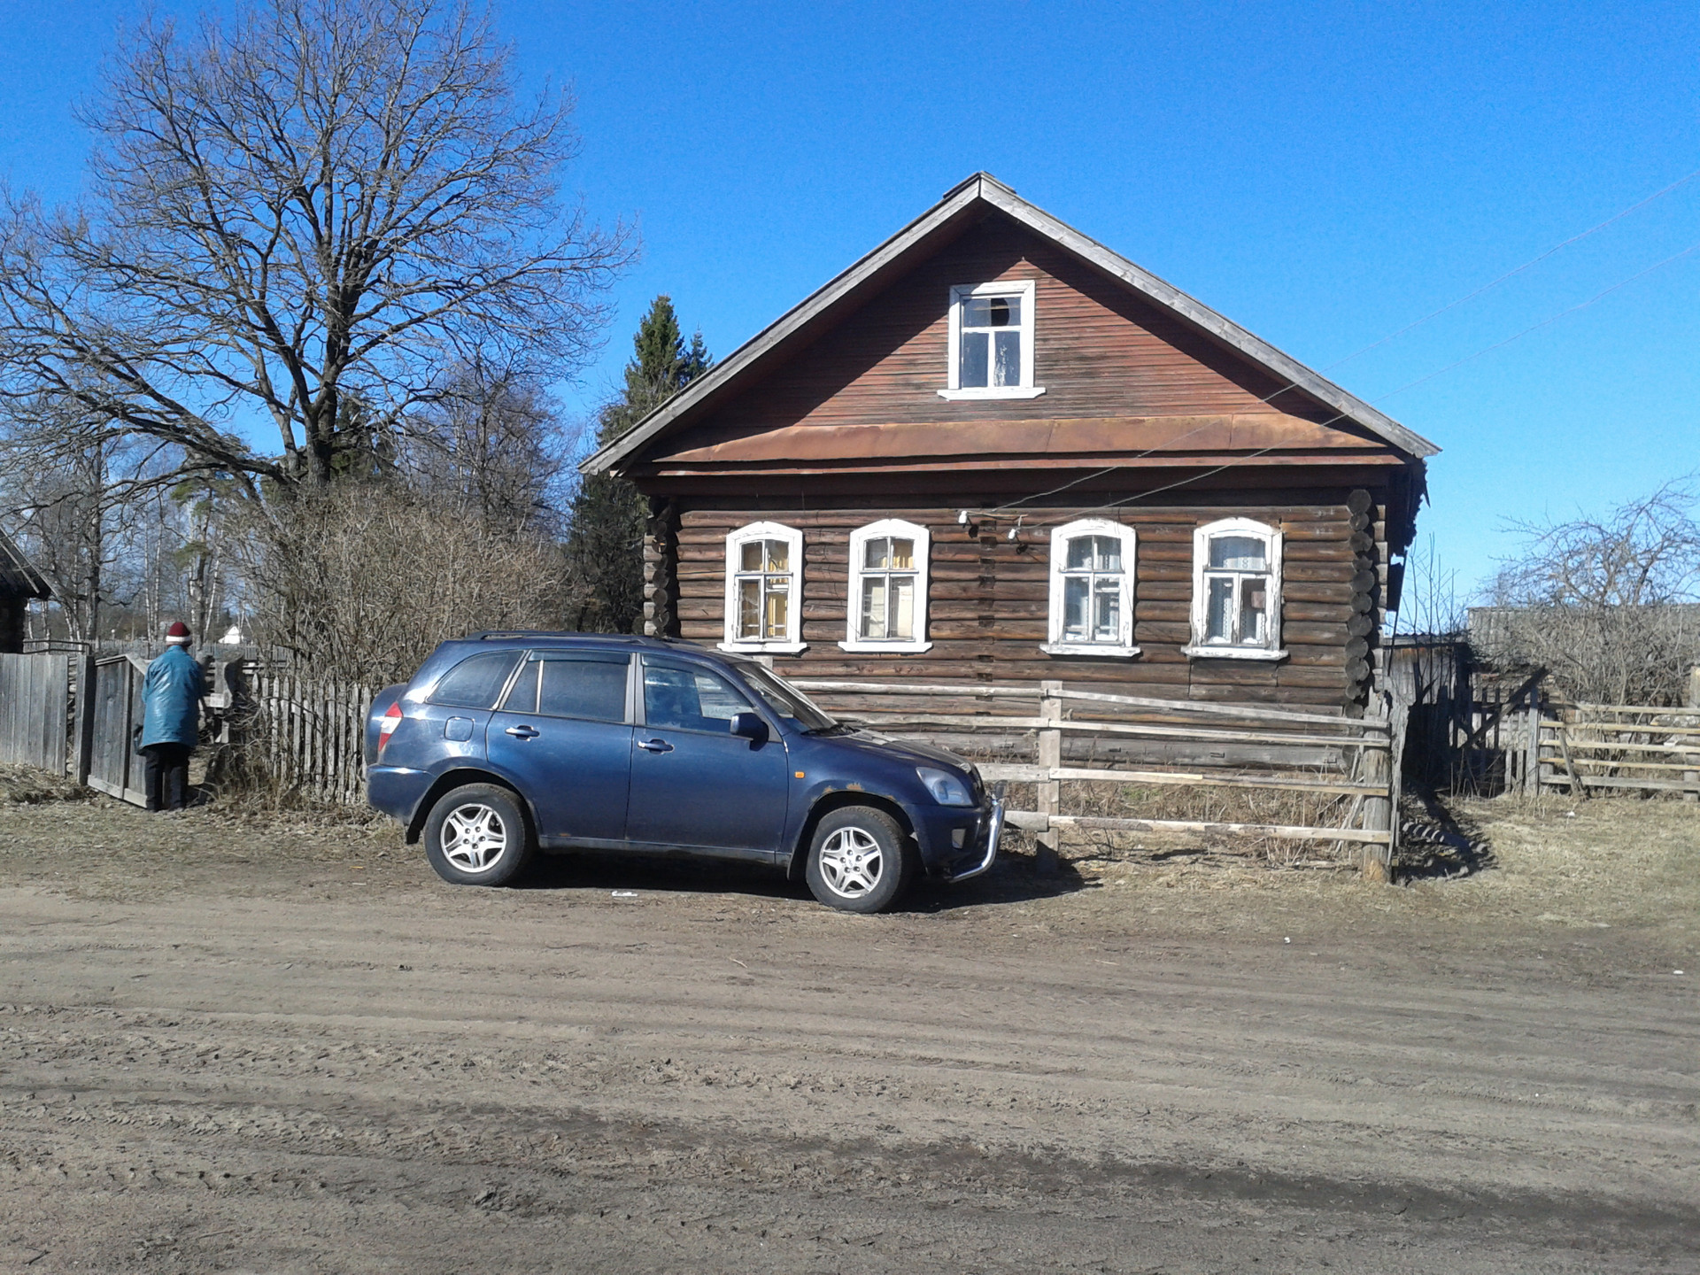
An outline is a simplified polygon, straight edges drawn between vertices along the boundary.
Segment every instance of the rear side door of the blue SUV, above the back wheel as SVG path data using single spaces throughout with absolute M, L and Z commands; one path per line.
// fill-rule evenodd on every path
M 620 651 L 534 651 L 491 714 L 490 763 L 530 801 L 544 845 L 624 843 L 631 678 Z

